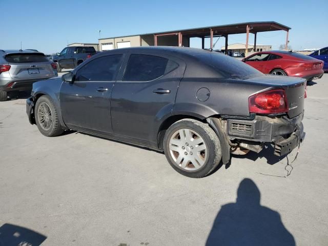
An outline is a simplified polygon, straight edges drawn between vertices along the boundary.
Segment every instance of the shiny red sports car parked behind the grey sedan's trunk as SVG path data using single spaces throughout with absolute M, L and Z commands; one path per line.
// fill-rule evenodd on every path
M 306 78 L 321 78 L 323 61 L 291 51 L 263 51 L 252 54 L 242 61 L 262 73 Z

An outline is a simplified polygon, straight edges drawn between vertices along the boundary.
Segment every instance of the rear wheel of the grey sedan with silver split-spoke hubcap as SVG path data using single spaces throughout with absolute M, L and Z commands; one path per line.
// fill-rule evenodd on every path
M 220 141 L 208 125 L 195 119 L 181 119 L 163 140 L 165 155 L 177 172 L 191 178 L 210 174 L 221 160 Z

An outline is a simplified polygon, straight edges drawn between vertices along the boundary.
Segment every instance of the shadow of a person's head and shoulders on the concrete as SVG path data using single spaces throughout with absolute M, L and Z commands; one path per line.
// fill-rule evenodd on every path
M 219 210 L 206 246 L 295 246 L 293 235 L 284 227 L 278 212 L 261 206 L 261 193 L 253 180 L 243 179 L 235 203 Z

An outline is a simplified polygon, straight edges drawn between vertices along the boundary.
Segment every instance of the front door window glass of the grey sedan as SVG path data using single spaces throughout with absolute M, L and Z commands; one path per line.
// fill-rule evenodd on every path
M 112 81 L 122 55 L 99 57 L 81 67 L 75 74 L 75 81 Z

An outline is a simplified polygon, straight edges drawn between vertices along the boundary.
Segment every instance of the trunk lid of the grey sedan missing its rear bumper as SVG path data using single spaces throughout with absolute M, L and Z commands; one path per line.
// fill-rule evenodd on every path
M 270 89 L 284 89 L 287 97 L 290 118 L 303 113 L 306 79 L 290 76 L 264 75 L 246 79 L 251 84 L 266 86 Z

